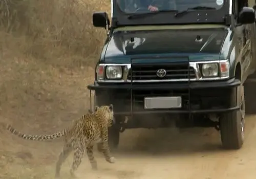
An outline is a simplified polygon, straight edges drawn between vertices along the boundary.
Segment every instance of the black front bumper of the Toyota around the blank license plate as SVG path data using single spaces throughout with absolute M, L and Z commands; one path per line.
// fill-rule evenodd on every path
M 241 84 L 238 79 L 226 81 L 111 83 L 88 85 L 95 91 L 98 105 L 113 104 L 116 115 L 225 113 L 239 109 L 230 101 L 231 92 Z M 144 97 L 181 96 L 179 109 L 144 109 Z

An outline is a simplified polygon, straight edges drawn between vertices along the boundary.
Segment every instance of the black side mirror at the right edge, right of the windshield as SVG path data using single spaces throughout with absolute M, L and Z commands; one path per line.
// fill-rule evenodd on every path
M 239 13 L 240 24 L 251 24 L 255 22 L 255 11 L 253 8 L 243 7 Z

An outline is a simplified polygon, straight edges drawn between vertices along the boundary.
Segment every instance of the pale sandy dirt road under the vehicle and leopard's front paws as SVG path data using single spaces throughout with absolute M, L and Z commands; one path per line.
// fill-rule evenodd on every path
M 255 119 L 247 116 L 246 142 L 237 151 L 221 149 L 214 129 L 127 130 L 114 152 L 116 163 L 108 164 L 97 154 L 99 171 L 91 171 L 84 159 L 79 178 L 255 178 Z

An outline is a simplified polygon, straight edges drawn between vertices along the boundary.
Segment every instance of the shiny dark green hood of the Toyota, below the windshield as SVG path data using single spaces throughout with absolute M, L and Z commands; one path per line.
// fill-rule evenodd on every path
M 227 33 L 225 28 L 116 31 L 105 47 L 103 58 L 105 62 L 116 63 L 142 56 L 216 60 L 220 59 Z

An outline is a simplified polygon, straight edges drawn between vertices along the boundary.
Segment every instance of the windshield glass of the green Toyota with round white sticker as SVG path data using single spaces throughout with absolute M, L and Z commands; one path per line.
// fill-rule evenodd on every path
M 125 13 L 147 13 L 154 11 L 184 11 L 194 7 L 220 9 L 224 0 L 117 0 Z

